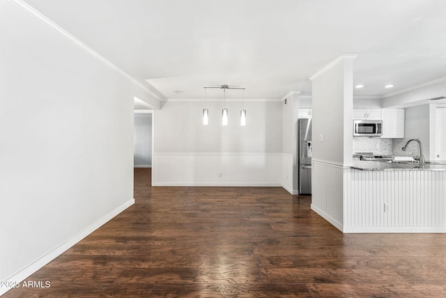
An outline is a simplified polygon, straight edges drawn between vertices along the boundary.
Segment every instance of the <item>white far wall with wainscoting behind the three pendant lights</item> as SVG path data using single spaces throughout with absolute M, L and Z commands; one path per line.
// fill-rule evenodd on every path
M 169 100 L 155 111 L 153 186 L 281 185 L 282 103 L 245 100 L 246 126 L 240 126 L 241 101 L 226 101 L 228 126 L 221 124 L 222 107 L 222 101 Z

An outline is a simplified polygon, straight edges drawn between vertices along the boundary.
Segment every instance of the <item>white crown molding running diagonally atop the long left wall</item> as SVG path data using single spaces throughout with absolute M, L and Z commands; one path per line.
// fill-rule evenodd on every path
M 45 24 L 47 27 L 53 29 L 57 33 L 61 34 L 64 38 L 70 40 L 70 42 L 74 43 L 78 47 L 80 47 L 85 52 L 89 53 L 91 56 L 95 57 L 95 59 L 98 59 L 99 61 L 102 61 L 102 63 L 109 66 L 109 68 L 112 68 L 112 70 L 115 70 L 117 73 L 123 75 L 126 79 L 130 80 L 132 83 L 136 84 L 138 87 L 146 91 L 148 94 L 153 96 L 156 100 L 162 100 L 160 96 L 155 94 L 153 91 L 148 89 L 144 84 L 142 84 L 139 80 L 135 79 L 128 73 L 126 73 L 121 68 L 118 68 L 115 64 L 113 64 L 111 61 L 103 57 L 101 54 L 93 50 L 91 47 L 86 45 L 85 43 L 82 43 L 81 40 L 75 38 L 75 36 L 72 36 L 68 31 L 62 29 L 58 24 L 54 23 L 52 20 L 49 20 L 45 15 L 38 12 L 38 10 L 31 7 L 29 4 L 25 3 L 22 0 L 8 0 L 10 3 L 15 5 L 17 8 L 20 8 L 20 10 L 24 11 L 24 13 L 27 13 L 28 15 L 31 15 L 34 19 L 38 20 L 40 23 Z

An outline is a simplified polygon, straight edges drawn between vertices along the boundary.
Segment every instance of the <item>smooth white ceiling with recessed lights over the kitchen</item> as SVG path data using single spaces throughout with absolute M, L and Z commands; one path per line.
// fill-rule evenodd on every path
M 310 93 L 341 54 L 358 54 L 355 96 L 446 77 L 444 0 L 25 1 L 162 100 Z

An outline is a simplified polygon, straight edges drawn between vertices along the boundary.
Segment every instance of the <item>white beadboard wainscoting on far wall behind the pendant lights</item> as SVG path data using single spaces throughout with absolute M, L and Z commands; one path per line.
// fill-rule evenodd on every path
M 152 170 L 153 186 L 282 186 L 280 153 L 155 153 Z

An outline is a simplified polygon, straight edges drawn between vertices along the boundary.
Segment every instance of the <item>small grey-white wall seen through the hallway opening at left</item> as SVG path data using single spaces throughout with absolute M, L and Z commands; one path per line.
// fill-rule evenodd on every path
M 152 166 L 152 114 L 134 114 L 133 165 Z

